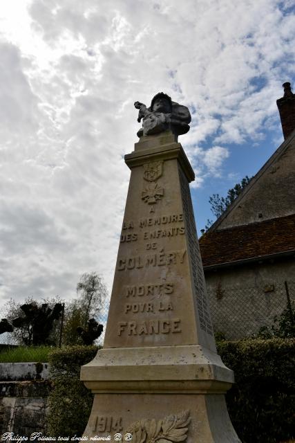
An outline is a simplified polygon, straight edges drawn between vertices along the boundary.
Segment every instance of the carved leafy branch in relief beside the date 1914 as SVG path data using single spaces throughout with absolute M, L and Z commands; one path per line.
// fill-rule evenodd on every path
M 162 420 L 142 419 L 126 430 L 132 434 L 132 443 L 171 443 L 187 440 L 186 427 L 191 422 L 189 410 L 177 415 L 168 415 Z

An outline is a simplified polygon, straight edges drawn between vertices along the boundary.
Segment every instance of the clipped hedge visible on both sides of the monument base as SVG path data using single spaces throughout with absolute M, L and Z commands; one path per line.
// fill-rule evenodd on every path
M 55 388 L 49 398 L 48 435 L 84 432 L 93 396 L 79 381 L 79 370 L 96 352 L 97 347 L 76 346 L 50 355 Z M 295 340 L 224 341 L 218 343 L 218 353 L 235 373 L 236 384 L 226 399 L 242 443 L 279 443 L 294 437 Z

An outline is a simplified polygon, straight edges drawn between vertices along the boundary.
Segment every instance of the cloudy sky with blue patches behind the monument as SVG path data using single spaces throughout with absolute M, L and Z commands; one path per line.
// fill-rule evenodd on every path
M 208 199 L 282 142 L 276 99 L 294 82 L 295 1 L 1 0 L 0 305 L 111 289 L 133 102 L 158 91 L 191 110 L 180 137 Z

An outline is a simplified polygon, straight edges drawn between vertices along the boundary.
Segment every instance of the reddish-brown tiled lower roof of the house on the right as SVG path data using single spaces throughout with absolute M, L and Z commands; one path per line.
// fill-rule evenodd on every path
M 203 266 L 295 251 L 295 214 L 214 230 L 199 242 Z

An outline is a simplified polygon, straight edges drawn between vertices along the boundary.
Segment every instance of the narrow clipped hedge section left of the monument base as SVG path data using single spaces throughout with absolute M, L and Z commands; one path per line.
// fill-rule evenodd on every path
M 79 380 L 80 368 L 95 357 L 97 349 L 97 346 L 64 347 L 49 355 L 53 391 L 48 398 L 48 435 L 79 437 L 84 433 L 93 395 Z

